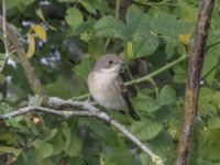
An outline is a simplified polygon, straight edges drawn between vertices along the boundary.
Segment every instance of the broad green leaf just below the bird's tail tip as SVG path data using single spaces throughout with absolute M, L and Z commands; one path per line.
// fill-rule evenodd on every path
M 155 138 L 162 131 L 162 124 L 143 119 L 141 122 L 134 122 L 131 125 L 131 132 L 134 133 L 141 141 L 147 141 Z

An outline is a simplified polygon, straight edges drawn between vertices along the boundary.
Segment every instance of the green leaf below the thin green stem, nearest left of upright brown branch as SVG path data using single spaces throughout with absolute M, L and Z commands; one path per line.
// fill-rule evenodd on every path
M 158 95 L 158 102 L 160 105 L 169 105 L 174 103 L 176 101 L 176 92 L 175 90 L 169 86 L 165 85 Z

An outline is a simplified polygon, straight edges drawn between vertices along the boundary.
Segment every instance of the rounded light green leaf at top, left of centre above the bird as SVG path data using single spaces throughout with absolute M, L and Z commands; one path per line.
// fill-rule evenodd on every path
M 80 10 L 76 9 L 76 8 L 69 8 L 66 11 L 66 22 L 75 30 L 79 24 L 82 23 L 84 18 L 82 14 L 80 12 Z

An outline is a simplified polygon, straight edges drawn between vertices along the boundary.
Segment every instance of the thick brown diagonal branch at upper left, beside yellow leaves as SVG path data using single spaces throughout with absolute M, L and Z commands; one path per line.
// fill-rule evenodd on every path
M 3 31 L 3 26 L 6 26 L 6 34 L 8 36 L 8 40 L 13 45 L 15 53 L 18 54 L 18 56 L 21 61 L 21 65 L 24 69 L 25 76 L 28 78 L 28 81 L 29 81 L 33 92 L 37 94 L 40 96 L 44 96 L 43 87 L 42 87 L 40 80 L 36 78 L 34 69 L 31 66 L 31 63 L 29 62 L 28 57 L 25 56 L 25 53 L 23 51 L 23 47 L 21 45 L 21 42 L 19 40 L 16 32 L 13 30 L 13 28 L 9 23 L 7 23 L 7 22 L 3 23 L 3 22 L 4 22 L 4 19 L 2 18 L 2 15 L 0 15 L 0 30 Z

